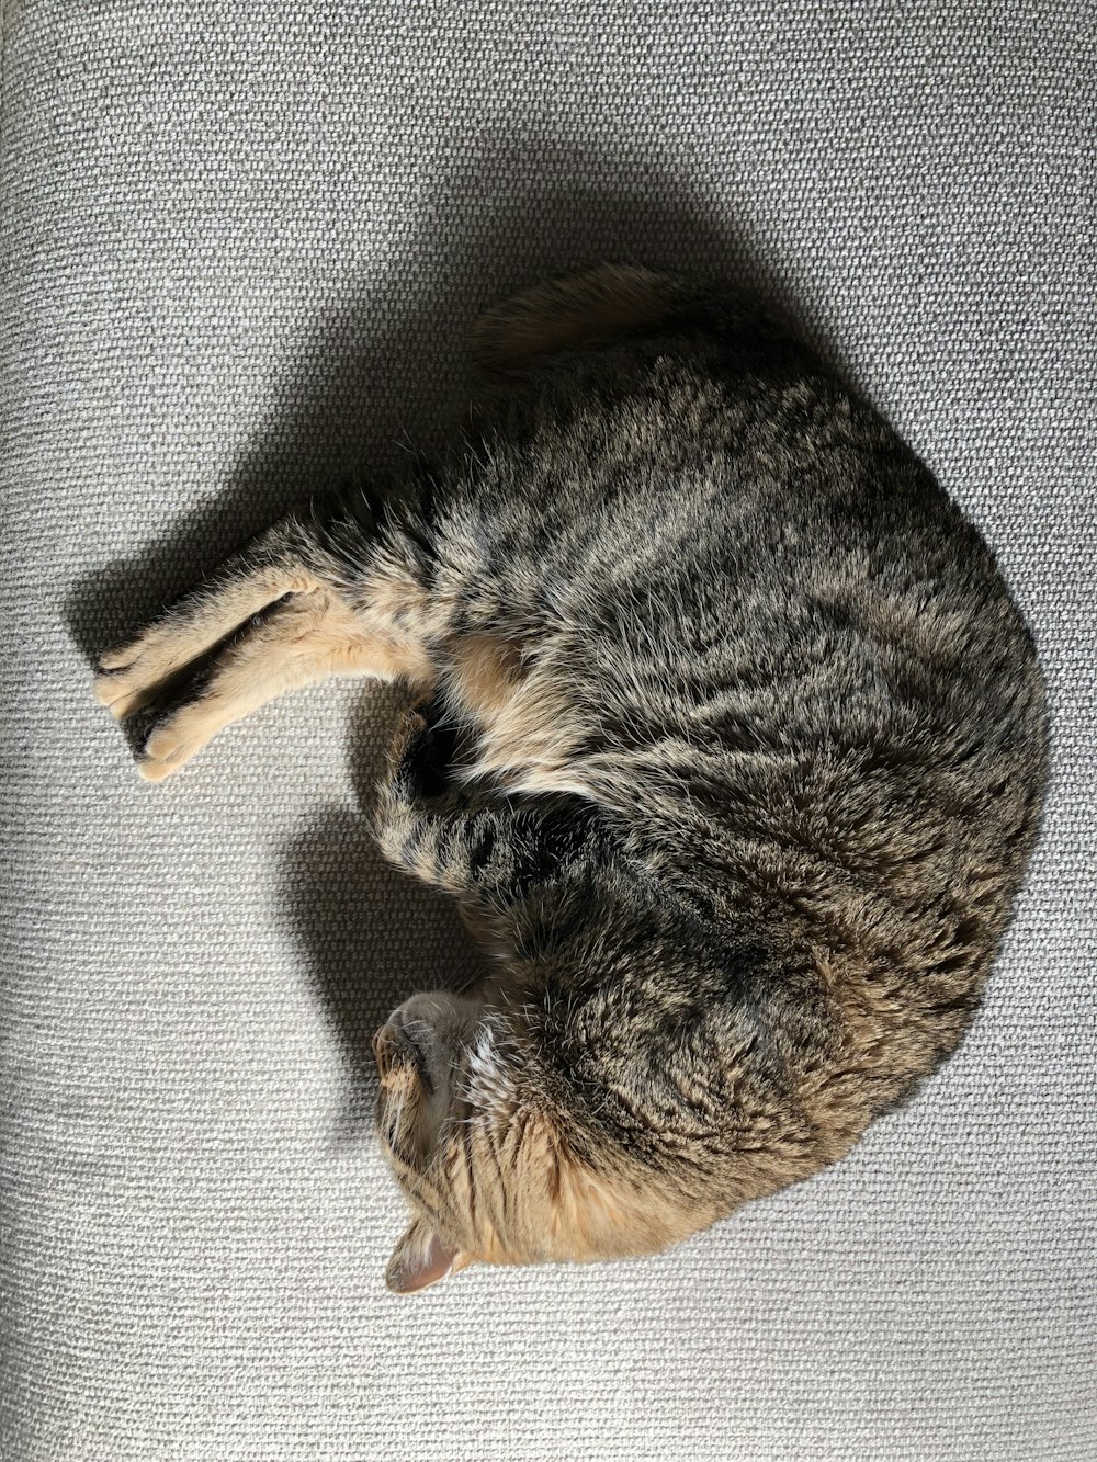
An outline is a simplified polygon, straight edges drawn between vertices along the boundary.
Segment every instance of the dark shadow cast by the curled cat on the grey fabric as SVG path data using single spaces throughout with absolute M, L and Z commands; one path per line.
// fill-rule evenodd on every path
M 607 177 L 630 181 L 585 181 Z M 484 205 L 483 178 L 503 199 L 494 209 Z M 456 240 L 449 253 L 439 247 L 442 230 Z M 746 284 L 796 313 L 765 260 L 687 184 L 654 170 L 638 177 L 635 161 L 579 155 L 537 139 L 481 148 L 423 206 L 421 235 L 424 247 L 401 254 L 386 282 L 364 291 L 348 281 L 345 304 L 314 322 L 227 488 L 136 558 L 97 566 L 75 586 L 67 621 L 88 659 L 291 501 L 393 466 L 402 442 L 437 444 L 465 396 L 464 338 L 491 300 L 619 259 Z M 813 322 L 802 316 L 802 323 L 818 339 Z M 347 1060 L 344 1130 L 372 1114 L 372 1038 L 388 1012 L 417 988 L 470 977 L 475 963 L 455 912 L 383 866 L 373 844 L 364 806 L 383 754 L 376 727 L 376 713 L 364 716 L 350 737 L 360 806 L 317 808 L 281 858 L 284 905 Z M 439 969 L 443 946 L 446 969 Z

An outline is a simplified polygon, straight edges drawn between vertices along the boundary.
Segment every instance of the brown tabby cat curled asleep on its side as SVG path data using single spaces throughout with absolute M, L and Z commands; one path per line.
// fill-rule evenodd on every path
M 373 826 L 487 974 L 374 1041 L 401 1292 L 657 1253 L 848 1152 L 970 1025 L 1047 765 L 989 548 L 783 322 L 607 265 L 472 348 L 445 458 L 290 513 L 95 681 L 154 705 L 151 781 L 295 686 L 407 686 Z

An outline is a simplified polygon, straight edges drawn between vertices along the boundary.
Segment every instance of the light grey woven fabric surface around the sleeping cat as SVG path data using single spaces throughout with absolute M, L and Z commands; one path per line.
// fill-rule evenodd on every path
M 1097 1456 L 1085 6 L 15 0 L 0 110 L 0 1455 Z M 493 297 L 603 257 L 791 306 L 999 553 L 1044 835 L 970 1039 L 658 1260 L 383 1288 L 369 1042 L 474 968 L 363 806 L 391 693 L 140 784 L 88 656 L 431 442 Z

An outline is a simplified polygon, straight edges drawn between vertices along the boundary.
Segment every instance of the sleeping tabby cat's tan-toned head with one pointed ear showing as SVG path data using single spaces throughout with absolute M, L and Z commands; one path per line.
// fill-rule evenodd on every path
M 667 1143 L 692 1154 L 658 1094 L 651 1111 L 635 1111 L 629 1139 L 600 1116 L 644 1086 L 622 1072 L 611 1091 L 604 1060 L 594 1082 L 584 1073 L 601 1020 L 560 1061 L 546 1050 L 543 1016 L 431 993 L 377 1032 L 380 1140 L 414 1215 L 388 1266 L 391 1289 L 421 1289 L 474 1263 L 651 1254 L 727 1211 L 699 1168 L 664 1161 Z

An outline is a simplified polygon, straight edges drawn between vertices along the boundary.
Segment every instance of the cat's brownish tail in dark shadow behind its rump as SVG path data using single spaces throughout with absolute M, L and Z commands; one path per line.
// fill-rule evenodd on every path
M 477 364 L 499 376 L 623 330 L 657 326 L 695 298 L 695 287 L 636 265 L 600 265 L 535 285 L 493 306 L 471 336 Z

